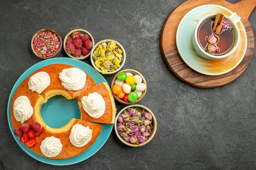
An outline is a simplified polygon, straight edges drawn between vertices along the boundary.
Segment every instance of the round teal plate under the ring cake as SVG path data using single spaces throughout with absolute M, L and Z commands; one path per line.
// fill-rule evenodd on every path
M 43 66 L 47 66 L 49 64 L 69 64 L 69 65 L 75 66 L 75 67 L 80 68 L 81 70 L 85 71 L 88 75 L 90 75 L 90 77 L 92 77 L 92 79 L 94 80 L 94 82 L 96 84 L 99 84 L 100 82 L 106 82 L 106 83 L 108 83 L 108 82 L 98 71 L 96 71 L 89 64 L 82 62 L 80 60 L 74 60 L 74 59 L 65 58 L 65 57 L 58 57 L 58 58 L 43 60 L 43 61 L 38 62 L 37 64 L 31 66 L 29 69 L 27 69 L 27 71 L 25 71 L 18 78 L 17 82 L 14 84 L 14 86 L 11 90 L 9 100 L 8 100 L 8 105 L 7 105 L 7 119 L 8 119 L 8 123 L 9 123 L 9 128 L 11 130 L 11 134 L 13 135 L 14 139 L 16 140 L 16 142 L 20 146 L 20 148 L 22 148 L 22 150 L 24 150 L 29 156 L 31 156 L 34 159 L 41 161 L 43 163 L 47 163 L 50 165 L 57 165 L 57 166 L 72 165 L 72 164 L 84 161 L 85 159 L 88 159 L 89 157 L 94 155 L 96 152 L 98 152 L 98 150 L 108 140 L 114 125 L 113 124 L 101 124 L 103 126 L 102 130 L 99 134 L 99 137 L 92 144 L 92 146 L 90 146 L 90 148 L 85 150 L 85 152 L 83 152 L 75 157 L 69 158 L 69 159 L 50 159 L 50 158 L 38 155 L 37 153 L 35 153 L 31 149 L 29 149 L 27 146 L 22 144 L 20 142 L 20 138 L 16 137 L 13 133 L 14 129 L 11 124 L 11 108 L 10 108 L 13 94 L 15 93 L 15 91 L 18 88 L 18 86 L 20 85 L 20 83 L 27 76 L 29 76 L 31 73 L 33 73 L 37 69 L 42 68 Z M 63 105 L 63 103 L 64 103 L 64 105 Z M 63 106 L 65 106 L 65 108 L 63 108 Z M 56 114 L 54 109 L 61 110 L 62 115 L 65 114 L 66 116 L 65 117 L 63 116 L 62 119 L 59 119 L 60 117 L 58 115 L 49 117 L 48 115 L 51 114 L 51 112 Z M 69 114 L 65 113 L 65 110 L 69 110 Z M 70 110 L 71 110 L 71 112 L 70 112 Z M 47 113 L 48 111 L 49 111 L 49 113 Z M 58 128 L 58 127 L 64 126 L 65 124 L 67 124 L 67 122 L 70 119 L 79 118 L 81 115 L 80 110 L 78 108 L 77 100 L 73 99 L 73 100 L 69 101 L 69 100 L 65 99 L 65 97 L 62 97 L 62 96 L 55 96 L 55 97 L 50 98 L 45 104 L 43 104 L 43 106 L 41 108 L 41 114 L 42 114 L 43 120 L 47 123 L 47 125 L 52 126 L 53 128 Z

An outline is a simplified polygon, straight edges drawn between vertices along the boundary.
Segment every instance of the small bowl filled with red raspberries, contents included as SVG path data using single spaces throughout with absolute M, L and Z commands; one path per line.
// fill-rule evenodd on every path
M 67 55 L 77 60 L 84 60 L 91 54 L 94 38 L 84 29 L 74 29 L 67 33 L 63 48 Z

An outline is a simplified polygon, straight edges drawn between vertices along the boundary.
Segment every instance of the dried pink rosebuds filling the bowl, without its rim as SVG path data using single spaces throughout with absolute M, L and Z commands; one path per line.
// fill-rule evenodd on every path
M 152 115 L 144 109 L 127 108 L 117 121 L 119 135 L 132 144 L 143 143 L 152 134 Z

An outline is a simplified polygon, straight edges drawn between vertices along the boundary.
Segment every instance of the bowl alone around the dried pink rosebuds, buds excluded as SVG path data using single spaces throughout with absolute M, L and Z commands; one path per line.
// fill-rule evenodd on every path
M 152 126 L 153 128 L 151 129 L 151 131 L 152 131 L 152 132 L 151 132 L 151 135 L 150 135 L 149 137 L 147 137 L 146 141 L 144 141 L 144 142 L 142 142 L 142 143 L 137 142 L 137 144 L 132 144 L 131 142 L 126 141 L 126 139 L 124 139 L 124 138 L 121 137 L 121 135 L 120 135 L 122 132 L 120 132 L 120 131 L 118 130 L 118 129 L 120 129 L 120 128 L 118 128 L 118 127 L 119 127 L 119 116 L 120 116 L 121 114 L 123 114 L 123 112 L 124 112 L 126 109 L 128 109 L 128 108 L 139 108 L 140 110 L 145 110 L 146 112 L 148 112 L 148 113 L 150 113 L 150 114 L 152 115 L 152 120 L 151 120 L 151 125 L 150 125 L 150 126 Z M 142 123 L 141 123 L 140 125 L 142 126 Z M 155 136 L 156 130 L 157 130 L 157 121 L 156 121 L 155 115 L 154 115 L 154 114 L 152 113 L 152 111 L 149 110 L 147 107 L 142 106 L 142 105 L 139 105 L 139 104 L 134 104 L 134 105 L 126 106 L 125 108 L 123 108 L 123 109 L 117 114 L 116 119 L 115 119 L 114 129 L 115 129 L 115 133 L 116 133 L 118 139 L 119 139 L 122 143 L 124 143 L 124 144 L 126 144 L 126 145 L 128 145 L 128 146 L 138 147 L 138 146 L 143 146 L 143 145 L 148 144 L 148 142 L 150 142 L 150 141 L 153 139 L 153 137 Z M 141 135 L 143 135 L 143 133 L 141 133 Z M 129 136 L 134 136 L 134 135 L 129 135 Z M 137 138 L 137 139 L 138 139 L 138 138 Z M 138 141 L 139 141 L 139 139 L 138 139 Z

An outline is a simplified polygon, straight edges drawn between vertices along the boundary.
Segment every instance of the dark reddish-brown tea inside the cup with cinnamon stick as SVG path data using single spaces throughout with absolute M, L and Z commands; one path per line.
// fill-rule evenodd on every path
M 207 53 L 212 55 L 222 55 L 227 53 L 233 46 L 235 40 L 234 31 L 231 27 L 230 29 L 222 30 L 220 34 L 213 33 L 212 28 L 214 20 L 215 18 L 210 18 L 201 24 L 198 29 L 198 42 L 202 49 L 205 49 Z M 207 42 L 209 35 L 215 36 L 217 41 L 215 44 Z M 210 46 L 212 44 L 213 46 Z M 211 52 L 209 49 L 207 50 L 207 47 L 209 46 L 213 47 L 213 49 L 215 48 L 216 51 Z

